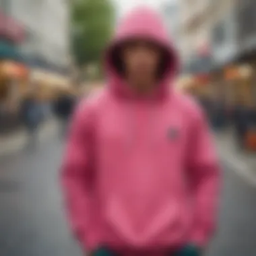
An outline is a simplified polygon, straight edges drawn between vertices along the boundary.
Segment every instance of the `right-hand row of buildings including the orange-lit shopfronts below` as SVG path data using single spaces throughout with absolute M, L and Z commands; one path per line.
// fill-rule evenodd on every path
M 231 108 L 256 108 L 255 0 L 183 0 L 181 6 L 188 72 L 210 74 L 212 92 Z M 209 68 L 202 58 L 203 45 L 210 55 Z

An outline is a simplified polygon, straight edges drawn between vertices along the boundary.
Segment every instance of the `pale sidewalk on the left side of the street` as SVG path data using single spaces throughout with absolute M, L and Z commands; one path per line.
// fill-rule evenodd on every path
M 39 131 L 39 141 L 46 139 L 57 129 L 57 121 L 51 119 L 42 124 Z M 24 148 L 27 134 L 23 129 L 8 136 L 0 136 L 0 156 L 6 156 L 18 152 Z

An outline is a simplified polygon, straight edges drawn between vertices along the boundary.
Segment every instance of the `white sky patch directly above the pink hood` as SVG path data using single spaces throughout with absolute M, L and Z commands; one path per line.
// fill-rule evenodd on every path
M 114 0 L 119 8 L 119 15 L 123 15 L 137 5 L 149 5 L 158 9 L 160 5 L 167 0 Z M 170 1 L 170 0 L 168 0 Z M 172 0 L 173 1 L 173 0 Z

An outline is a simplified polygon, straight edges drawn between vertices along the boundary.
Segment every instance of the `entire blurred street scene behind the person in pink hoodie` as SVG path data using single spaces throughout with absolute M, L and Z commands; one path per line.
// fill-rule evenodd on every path
M 255 0 L 0 0 L 0 255 L 82 255 L 59 189 L 65 134 L 104 84 L 120 16 L 139 4 L 161 13 L 181 57 L 172 86 L 203 106 L 222 163 L 206 255 L 256 255 Z

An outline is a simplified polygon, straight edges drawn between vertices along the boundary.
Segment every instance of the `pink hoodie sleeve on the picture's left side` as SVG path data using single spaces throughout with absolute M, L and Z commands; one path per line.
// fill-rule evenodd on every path
M 73 232 L 88 245 L 88 222 L 92 203 L 93 133 L 92 110 L 81 104 L 75 110 L 61 170 L 67 214 Z

